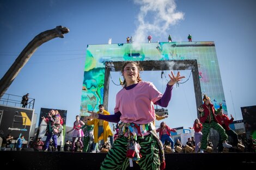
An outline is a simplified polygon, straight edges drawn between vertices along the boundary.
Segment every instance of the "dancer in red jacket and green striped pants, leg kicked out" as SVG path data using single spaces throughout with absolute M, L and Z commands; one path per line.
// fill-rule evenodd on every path
M 221 140 L 223 141 L 223 147 L 231 148 L 232 146 L 227 143 L 228 135 L 225 134 L 225 130 L 222 128 L 220 124 L 217 123 L 217 119 L 215 114 L 218 114 L 218 112 L 222 109 L 222 104 L 220 104 L 220 108 L 218 110 L 215 110 L 214 105 L 210 102 L 210 97 L 204 95 L 203 98 L 204 104 L 200 106 L 199 114 L 200 114 L 200 122 L 203 123 L 203 129 L 202 129 L 202 144 L 201 144 L 201 150 L 200 152 L 204 152 L 204 149 L 207 148 L 207 142 L 208 142 L 208 136 L 210 133 L 210 129 L 213 128 L 218 131 L 218 133 L 221 135 Z

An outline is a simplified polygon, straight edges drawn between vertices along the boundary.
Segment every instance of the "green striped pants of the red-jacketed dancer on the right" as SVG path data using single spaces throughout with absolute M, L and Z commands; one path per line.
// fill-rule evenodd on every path
M 221 136 L 221 140 L 225 141 L 228 139 L 228 135 L 225 134 L 225 129 L 222 128 L 220 124 L 218 124 L 215 121 L 211 121 L 210 123 L 203 123 L 203 129 L 202 129 L 202 141 L 201 141 L 201 147 L 200 149 L 206 149 L 208 146 L 208 137 L 210 133 L 210 129 L 213 128 L 214 130 L 217 130 L 218 133 Z

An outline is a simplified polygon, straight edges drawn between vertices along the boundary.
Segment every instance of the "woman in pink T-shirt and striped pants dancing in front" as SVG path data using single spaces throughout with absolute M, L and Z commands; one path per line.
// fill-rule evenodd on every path
M 163 146 L 156 134 L 154 104 L 167 107 L 172 88 L 182 78 L 178 72 L 169 74 L 170 81 L 164 94 L 153 83 L 142 81 L 139 62 L 127 61 L 122 67 L 123 89 L 115 99 L 114 115 L 92 112 L 90 118 L 119 122 L 119 135 L 114 141 L 100 169 L 126 169 L 136 161 L 141 169 L 164 169 Z M 150 162 L 149 162 L 150 160 Z

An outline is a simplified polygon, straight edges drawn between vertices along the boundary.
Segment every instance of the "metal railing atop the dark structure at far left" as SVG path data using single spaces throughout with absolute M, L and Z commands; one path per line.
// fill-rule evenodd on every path
M 22 96 L 17 96 L 17 95 L 11 95 L 11 94 L 8 94 L 8 93 L 4 93 L 4 95 L 0 99 L 0 104 L 22 108 L 21 100 L 22 100 Z M 34 103 L 35 103 L 35 99 L 34 98 L 29 98 L 26 108 L 27 109 L 34 109 Z

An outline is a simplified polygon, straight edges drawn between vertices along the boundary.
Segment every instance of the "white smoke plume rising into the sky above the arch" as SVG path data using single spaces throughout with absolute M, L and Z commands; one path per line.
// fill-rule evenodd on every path
M 184 13 L 176 11 L 174 0 L 133 0 L 141 5 L 138 14 L 138 27 L 133 35 L 133 43 L 147 42 L 148 35 L 168 37 L 167 30 L 184 19 Z

